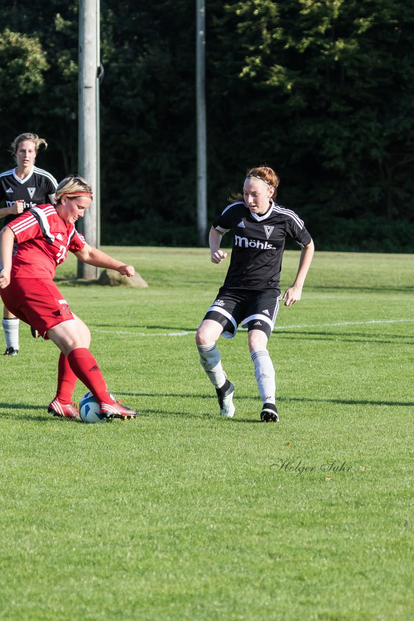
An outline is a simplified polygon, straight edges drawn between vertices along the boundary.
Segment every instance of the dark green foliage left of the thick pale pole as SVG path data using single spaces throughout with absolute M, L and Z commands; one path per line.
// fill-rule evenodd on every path
M 0 73 L 1 170 L 13 164 L 7 153 L 12 140 L 22 132 L 35 132 L 48 142 L 37 165 L 63 178 L 77 168 L 78 160 L 77 6 L 58 0 L 11 2 L 0 14 L 1 49 L 7 55 Z M 24 54 L 29 49 L 27 65 Z

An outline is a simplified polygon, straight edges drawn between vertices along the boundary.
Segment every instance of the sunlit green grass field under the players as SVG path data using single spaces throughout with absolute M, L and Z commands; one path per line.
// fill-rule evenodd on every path
M 244 330 L 218 342 L 235 419 L 198 362 L 227 265 L 106 250 L 149 288 L 75 283 L 73 258 L 57 280 L 141 415 L 53 419 L 58 350 L 20 325 L 19 356 L 0 356 L 0 619 L 414 619 L 414 255 L 316 253 L 269 340 L 266 425 Z

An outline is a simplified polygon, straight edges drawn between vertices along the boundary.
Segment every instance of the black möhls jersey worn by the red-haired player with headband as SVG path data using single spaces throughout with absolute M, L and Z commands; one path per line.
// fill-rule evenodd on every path
M 238 289 L 278 289 L 286 237 L 302 246 L 312 239 L 294 211 L 273 201 L 264 215 L 252 214 L 244 202 L 233 202 L 213 227 L 220 233 L 232 230 L 232 258 L 223 286 Z

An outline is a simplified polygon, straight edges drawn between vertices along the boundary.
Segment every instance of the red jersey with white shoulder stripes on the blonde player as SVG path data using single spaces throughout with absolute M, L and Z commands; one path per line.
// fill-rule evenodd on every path
M 11 278 L 53 278 L 68 250 L 85 245 L 74 224 L 66 224 L 53 205 L 37 205 L 7 224 L 17 239 Z

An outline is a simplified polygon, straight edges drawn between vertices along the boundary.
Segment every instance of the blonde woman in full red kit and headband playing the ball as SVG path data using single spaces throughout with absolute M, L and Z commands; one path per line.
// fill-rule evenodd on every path
M 36 205 L 9 222 L 0 232 L 0 295 L 16 317 L 38 330 L 57 345 L 58 388 L 48 412 L 78 419 L 72 404 L 76 380 L 92 392 L 102 415 L 132 418 L 137 412 L 114 401 L 95 358 L 89 351 L 91 333 L 76 317 L 53 282 L 56 266 L 68 250 L 84 263 L 117 270 L 133 276 L 132 265 L 124 265 L 97 248 L 78 233 L 74 223 L 84 216 L 92 201 L 92 188 L 78 175 L 69 175 L 56 188 L 56 204 Z M 12 256 L 14 242 L 17 252 Z

